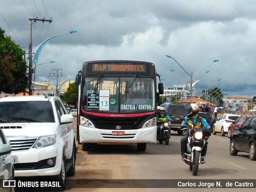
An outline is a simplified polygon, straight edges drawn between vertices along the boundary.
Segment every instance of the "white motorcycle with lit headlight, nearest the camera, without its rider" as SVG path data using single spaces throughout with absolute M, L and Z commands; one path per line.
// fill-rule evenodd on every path
M 206 143 L 206 139 L 208 136 L 203 135 L 203 128 L 201 127 L 185 127 L 184 132 L 189 129 L 188 135 L 188 143 L 187 143 L 187 150 L 188 154 L 185 153 L 187 156 L 184 158 L 184 162 L 189 165 L 189 169 L 192 170 L 192 174 L 194 176 L 198 173 L 199 164 L 204 164 L 206 156 L 201 156 L 202 148 Z

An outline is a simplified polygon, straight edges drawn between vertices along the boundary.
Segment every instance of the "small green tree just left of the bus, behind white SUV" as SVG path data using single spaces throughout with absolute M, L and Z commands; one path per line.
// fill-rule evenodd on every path
M 78 86 L 75 83 L 70 83 L 67 91 L 63 95 L 63 101 L 68 105 L 75 105 L 77 103 Z

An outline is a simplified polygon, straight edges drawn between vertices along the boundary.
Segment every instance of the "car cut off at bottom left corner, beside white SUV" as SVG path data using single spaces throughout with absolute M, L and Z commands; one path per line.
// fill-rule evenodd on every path
M 0 122 L 4 121 L 0 119 Z M 14 166 L 12 162 L 12 146 L 8 143 L 2 129 L 0 129 L 0 178 L 3 180 L 14 179 Z M 2 183 L 0 184 L 2 186 Z M 5 185 L 8 186 L 8 185 Z M 11 192 L 14 188 L 0 188 L 0 192 Z

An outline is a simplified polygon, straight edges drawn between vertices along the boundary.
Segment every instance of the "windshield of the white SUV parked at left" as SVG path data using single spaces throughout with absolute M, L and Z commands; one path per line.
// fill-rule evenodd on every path
M 1 123 L 55 122 L 50 101 L 1 102 L 0 119 Z

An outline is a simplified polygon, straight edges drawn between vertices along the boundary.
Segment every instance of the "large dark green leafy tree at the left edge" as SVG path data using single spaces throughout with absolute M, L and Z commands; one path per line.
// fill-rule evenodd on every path
M 0 28 L 0 93 L 20 93 L 28 85 L 24 51 Z

